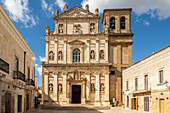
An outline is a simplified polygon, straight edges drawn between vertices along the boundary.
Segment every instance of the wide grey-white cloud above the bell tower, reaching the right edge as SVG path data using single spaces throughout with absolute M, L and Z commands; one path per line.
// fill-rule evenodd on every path
M 170 0 L 83 0 L 82 6 L 89 4 L 92 12 L 96 8 L 102 13 L 106 8 L 133 8 L 138 15 L 150 14 L 151 17 L 167 19 L 170 17 Z

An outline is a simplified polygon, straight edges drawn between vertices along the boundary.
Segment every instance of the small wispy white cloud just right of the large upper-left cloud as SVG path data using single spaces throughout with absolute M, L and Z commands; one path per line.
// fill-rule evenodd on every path
M 54 14 L 53 4 L 49 5 L 45 0 L 41 0 L 41 8 L 49 17 Z

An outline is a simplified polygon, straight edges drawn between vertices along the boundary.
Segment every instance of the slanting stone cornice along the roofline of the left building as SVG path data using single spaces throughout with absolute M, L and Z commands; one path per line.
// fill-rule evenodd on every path
M 18 31 L 17 27 L 12 22 L 12 20 L 10 19 L 6 11 L 3 9 L 1 4 L 0 4 L 0 13 L 2 14 L 0 23 L 7 29 L 11 37 L 13 37 L 16 40 L 16 42 L 18 42 L 21 48 L 27 49 L 29 53 L 31 54 L 30 57 L 34 57 L 35 54 L 31 50 L 31 48 L 28 46 L 27 42 L 24 40 L 21 33 Z

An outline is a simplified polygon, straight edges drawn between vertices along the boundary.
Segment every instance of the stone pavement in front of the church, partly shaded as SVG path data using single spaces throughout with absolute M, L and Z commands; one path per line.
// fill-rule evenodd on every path
M 121 107 L 111 107 L 110 109 L 89 107 L 58 107 L 58 108 L 48 107 L 33 109 L 26 113 L 146 113 L 146 112 L 126 110 Z

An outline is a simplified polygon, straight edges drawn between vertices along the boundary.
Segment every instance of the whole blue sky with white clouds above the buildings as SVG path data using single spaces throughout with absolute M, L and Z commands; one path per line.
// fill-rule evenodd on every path
M 36 55 L 33 60 L 38 86 L 42 86 L 45 26 L 54 31 L 55 10 L 63 13 L 65 4 L 68 9 L 74 6 L 84 8 L 89 4 L 93 13 L 98 8 L 100 31 L 103 9 L 132 8 L 133 63 L 170 45 L 170 0 L 1 0 L 0 3 Z

